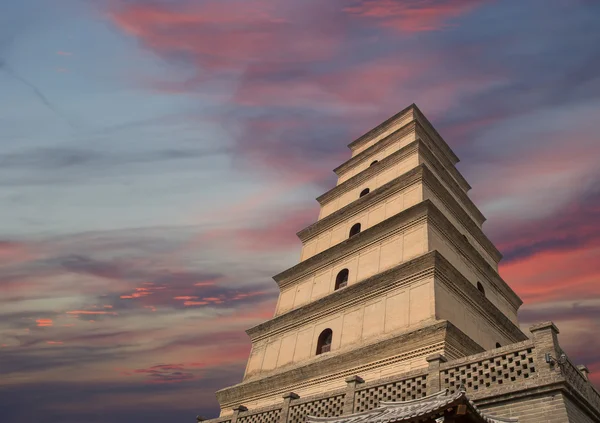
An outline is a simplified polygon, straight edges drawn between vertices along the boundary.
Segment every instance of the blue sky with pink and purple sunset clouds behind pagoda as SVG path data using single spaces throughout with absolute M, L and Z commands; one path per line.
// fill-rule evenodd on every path
M 346 145 L 416 103 L 600 385 L 600 3 L 0 2 L 3 422 L 214 417 Z

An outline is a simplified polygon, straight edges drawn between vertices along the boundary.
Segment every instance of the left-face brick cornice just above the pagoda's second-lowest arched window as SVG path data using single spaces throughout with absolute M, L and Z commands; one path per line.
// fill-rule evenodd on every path
M 428 210 L 433 207 L 435 206 L 431 201 L 422 201 L 419 204 L 360 232 L 352 238 L 348 238 L 319 254 L 301 261 L 297 265 L 273 276 L 273 279 L 277 282 L 279 287 L 282 288 L 303 275 L 316 271 L 318 268 L 326 265 L 332 260 L 336 260 L 369 244 L 380 241 L 382 237 L 388 236 L 391 233 L 399 232 L 410 226 L 421 223 L 421 221 L 426 218 Z

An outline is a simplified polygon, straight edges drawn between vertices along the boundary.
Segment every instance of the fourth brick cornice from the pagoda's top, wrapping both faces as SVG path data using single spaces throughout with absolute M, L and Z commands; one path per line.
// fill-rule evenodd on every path
M 416 145 L 420 151 L 425 153 L 424 156 L 427 156 L 427 147 L 421 144 L 420 141 L 415 141 L 414 143 L 410 144 L 410 146 L 413 145 Z M 337 223 L 366 210 L 374 204 L 384 201 L 386 198 L 420 181 L 425 183 L 442 200 L 450 212 L 454 214 L 458 221 L 462 223 L 467 231 L 469 231 L 469 233 L 479 242 L 479 244 L 492 256 L 496 262 L 502 259 L 502 254 L 500 251 L 498 251 L 494 244 L 483 233 L 481 228 L 473 222 L 473 219 L 464 211 L 456 199 L 448 192 L 446 187 L 444 187 L 444 185 L 438 181 L 436 175 L 429 170 L 428 165 L 426 164 L 421 164 L 409 170 L 403 175 L 372 191 L 369 193 L 369 195 L 361 197 L 358 200 L 353 201 L 347 206 L 330 214 L 329 216 L 318 220 L 317 222 L 298 232 L 297 235 L 303 243 L 306 243 L 309 239 L 318 236 Z M 477 207 L 475 207 L 473 204 L 472 207 L 469 207 L 469 210 L 477 210 Z

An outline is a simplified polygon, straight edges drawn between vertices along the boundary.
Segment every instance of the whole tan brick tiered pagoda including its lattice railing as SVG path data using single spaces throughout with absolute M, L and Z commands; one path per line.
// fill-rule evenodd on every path
M 458 157 L 420 110 L 349 148 L 210 422 L 600 422 L 556 326 L 519 327 Z

